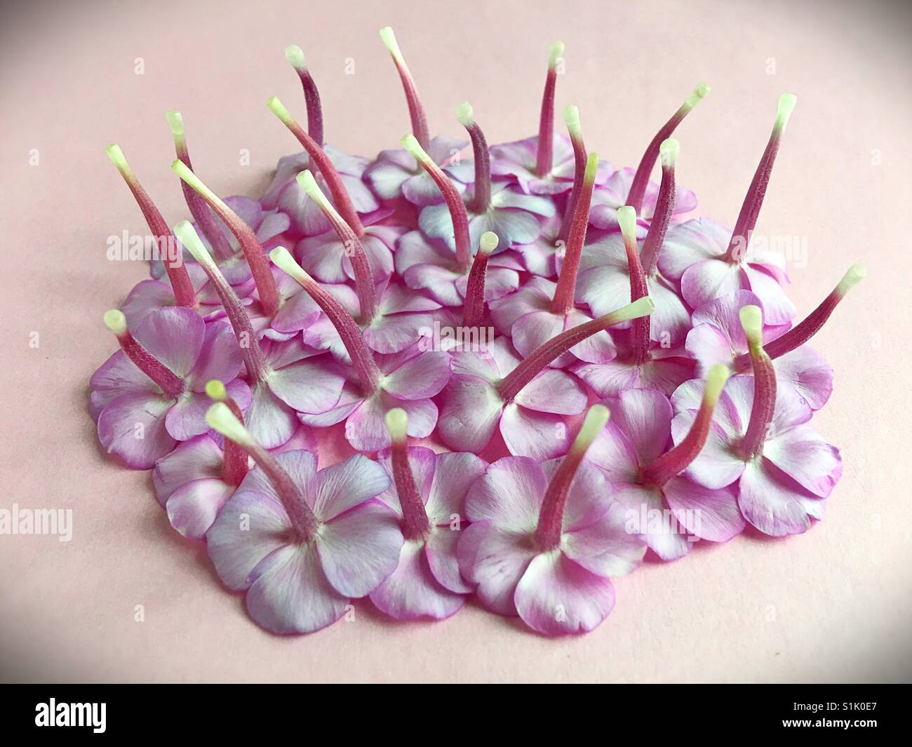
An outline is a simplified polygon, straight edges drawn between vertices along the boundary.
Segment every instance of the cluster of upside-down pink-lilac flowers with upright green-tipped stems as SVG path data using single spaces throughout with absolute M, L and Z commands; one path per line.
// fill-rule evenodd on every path
M 361 597 L 443 619 L 475 595 L 577 633 L 647 553 L 820 520 L 842 467 L 809 424 L 833 369 L 807 342 L 865 272 L 797 321 L 784 257 L 751 242 L 795 98 L 728 229 L 688 217 L 676 181 L 671 136 L 705 85 L 616 170 L 575 107 L 555 130 L 563 45 L 537 135 L 489 147 L 468 103 L 465 141 L 430 135 L 380 36 L 411 133 L 373 161 L 324 141 L 298 47 L 306 129 L 268 108 L 304 150 L 259 200 L 202 181 L 178 112 L 192 221 L 171 228 L 108 150 L 159 252 L 104 316 L 119 349 L 90 381 L 98 438 L 152 470 L 171 525 L 205 542 L 254 621 L 309 633 Z M 353 455 L 321 467 L 320 434 L 342 423 Z

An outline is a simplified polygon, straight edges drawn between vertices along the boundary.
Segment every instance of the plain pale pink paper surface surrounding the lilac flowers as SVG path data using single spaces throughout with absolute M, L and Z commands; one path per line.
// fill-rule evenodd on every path
M 25 5 L 25 4 L 23 4 Z M 52 680 L 907 680 L 909 532 L 909 15 L 828 2 L 32 3 L 5 8 L 0 505 L 70 507 L 75 534 L 0 537 L 0 669 Z M 118 141 L 166 218 L 185 216 L 167 109 L 217 192 L 258 193 L 295 141 L 264 107 L 304 118 L 282 50 L 304 47 L 327 140 L 373 155 L 408 130 L 377 29 L 396 28 L 432 130 L 461 135 L 469 99 L 491 141 L 533 133 L 547 43 L 566 42 L 557 103 L 586 142 L 636 163 L 693 85 L 679 181 L 733 223 L 783 90 L 799 104 L 758 232 L 808 237 L 801 314 L 845 268 L 869 276 L 814 345 L 836 388 L 814 424 L 843 450 L 826 520 L 801 537 L 743 536 L 617 581 L 583 638 L 548 640 L 470 605 L 440 624 L 357 620 L 270 637 L 171 531 L 150 476 L 109 462 L 88 376 L 115 349 L 101 313 L 145 276 L 105 259 L 145 232 L 105 157 Z M 134 74 L 143 57 L 145 75 Z M 354 76 L 345 75 L 347 57 Z M 772 58 L 772 59 L 771 59 Z M 774 61 L 773 61 L 774 60 Z M 774 74 L 768 72 L 774 65 Z M 40 165 L 28 164 L 37 149 Z M 239 165 L 248 149 L 251 165 Z M 873 162 L 876 153 L 879 163 Z M 40 334 L 40 348 L 28 346 Z M 145 622 L 134 606 L 145 606 Z

